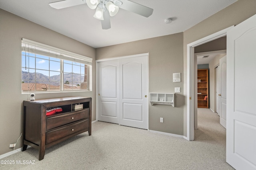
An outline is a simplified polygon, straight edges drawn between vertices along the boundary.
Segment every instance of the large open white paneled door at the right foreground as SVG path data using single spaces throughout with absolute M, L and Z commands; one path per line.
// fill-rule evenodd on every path
M 256 15 L 227 32 L 226 160 L 256 169 Z

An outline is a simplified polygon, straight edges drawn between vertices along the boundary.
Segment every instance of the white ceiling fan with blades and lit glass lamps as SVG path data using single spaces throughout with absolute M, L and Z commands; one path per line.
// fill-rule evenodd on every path
M 110 29 L 110 16 L 116 15 L 119 8 L 134 12 L 144 17 L 153 13 L 152 8 L 131 2 L 130 0 L 62 0 L 49 3 L 52 8 L 62 9 L 70 6 L 87 4 L 89 8 L 96 9 L 94 18 L 101 20 L 102 29 Z

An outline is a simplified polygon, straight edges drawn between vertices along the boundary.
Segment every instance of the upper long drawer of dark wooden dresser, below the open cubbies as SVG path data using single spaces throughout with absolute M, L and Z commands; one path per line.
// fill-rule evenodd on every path
M 46 119 L 46 131 L 59 127 L 74 121 L 86 119 L 89 117 L 89 109 L 75 111 L 64 115 L 49 117 Z

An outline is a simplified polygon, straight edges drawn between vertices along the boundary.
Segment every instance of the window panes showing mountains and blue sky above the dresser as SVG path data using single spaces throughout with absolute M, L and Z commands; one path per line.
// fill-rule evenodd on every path
M 86 64 L 22 52 L 22 92 L 88 90 Z

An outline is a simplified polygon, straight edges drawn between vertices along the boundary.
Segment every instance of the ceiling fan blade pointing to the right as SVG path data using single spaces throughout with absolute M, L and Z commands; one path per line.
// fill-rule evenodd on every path
M 117 0 L 117 1 L 119 1 L 119 0 Z M 146 6 L 137 4 L 135 2 L 131 2 L 129 0 L 120 0 L 120 1 L 122 1 L 122 4 L 115 3 L 115 0 L 114 0 L 114 4 L 124 10 L 134 12 L 134 13 L 139 14 L 144 17 L 149 17 L 153 13 L 152 8 L 148 8 Z

